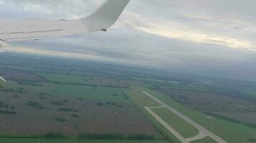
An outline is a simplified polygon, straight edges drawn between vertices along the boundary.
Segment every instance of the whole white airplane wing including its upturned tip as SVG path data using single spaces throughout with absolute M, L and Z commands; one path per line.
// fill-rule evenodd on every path
M 106 0 L 90 16 L 76 20 L 0 18 L 0 47 L 4 41 L 37 40 L 106 31 L 116 22 L 128 3 L 129 0 Z

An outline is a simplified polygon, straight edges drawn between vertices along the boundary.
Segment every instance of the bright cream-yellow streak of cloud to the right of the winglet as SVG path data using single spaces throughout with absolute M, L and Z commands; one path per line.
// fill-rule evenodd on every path
M 192 27 L 183 23 L 164 21 L 162 19 L 145 18 L 140 14 L 127 14 L 126 24 L 139 31 L 145 31 L 158 36 L 165 36 L 171 39 L 180 39 L 180 41 L 193 41 L 196 43 L 219 44 L 231 48 L 241 48 L 255 51 L 256 44 L 253 41 L 236 39 L 229 36 L 208 34 L 205 31 L 195 31 Z M 191 16 L 190 16 L 191 17 Z M 195 17 L 193 17 L 195 18 Z M 135 20 L 134 20 L 135 19 Z M 137 20 L 140 19 L 138 22 Z M 207 17 L 196 17 L 196 19 L 208 19 Z M 155 22 L 157 21 L 157 22 Z

